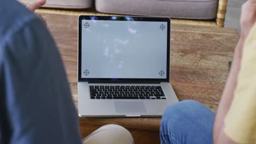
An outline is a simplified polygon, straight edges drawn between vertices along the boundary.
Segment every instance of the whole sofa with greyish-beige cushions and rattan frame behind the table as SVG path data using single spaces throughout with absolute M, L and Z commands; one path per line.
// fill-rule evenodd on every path
M 18 1 L 29 4 L 36 0 Z M 222 27 L 226 3 L 227 0 L 48 0 L 44 7 L 84 11 L 88 8 L 95 8 L 100 13 L 110 14 L 216 20 L 216 25 Z

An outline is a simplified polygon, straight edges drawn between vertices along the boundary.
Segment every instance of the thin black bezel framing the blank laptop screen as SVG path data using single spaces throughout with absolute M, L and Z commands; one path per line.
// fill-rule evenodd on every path
M 166 79 L 107 79 L 107 78 L 82 78 L 82 20 L 112 20 L 112 21 L 131 21 L 127 17 L 131 17 L 134 21 L 161 21 L 167 22 L 167 62 L 166 62 Z M 171 19 L 169 17 L 143 17 L 143 16 L 115 16 L 118 20 L 110 19 L 113 16 L 99 15 L 80 15 L 78 17 L 78 82 L 111 82 L 111 83 L 158 83 L 170 82 L 170 35 L 171 35 Z

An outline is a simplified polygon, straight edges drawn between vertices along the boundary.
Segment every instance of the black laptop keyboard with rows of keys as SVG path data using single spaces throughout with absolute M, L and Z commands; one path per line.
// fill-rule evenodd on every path
M 91 99 L 166 99 L 161 86 L 90 86 Z

